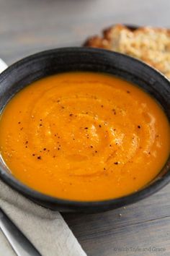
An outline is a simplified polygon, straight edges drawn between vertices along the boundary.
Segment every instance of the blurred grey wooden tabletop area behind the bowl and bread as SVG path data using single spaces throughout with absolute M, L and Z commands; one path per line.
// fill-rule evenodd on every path
M 169 26 L 169 9 L 169 0 L 0 0 L 1 58 L 11 64 L 47 48 L 78 46 L 117 22 Z

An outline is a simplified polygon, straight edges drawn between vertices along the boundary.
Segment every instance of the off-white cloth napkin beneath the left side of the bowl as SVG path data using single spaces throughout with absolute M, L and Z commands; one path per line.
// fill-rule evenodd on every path
M 0 72 L 5 68 L 6 64 L 0 59 Z M 35 204 L 1 180 L 0 206 L 42 256 L 86 255 L 60 213 Z M 0 236 L 0 255 L 15 255 L 11 248 L 2 253 L 3 244 L 4 237 Z

